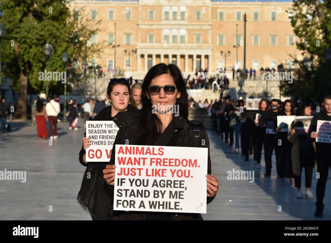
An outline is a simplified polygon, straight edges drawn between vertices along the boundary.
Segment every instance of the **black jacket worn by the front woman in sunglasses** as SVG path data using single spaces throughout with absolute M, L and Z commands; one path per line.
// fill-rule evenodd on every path
M 137 144 L 137 128 L 141 118 L 141 110 L 134 110 L 128 112 L 118 112 L 118 114 L 114 117 L 114 122 L 118 126 L 119 130 L 114 142 L 114 148 L 116 144 L 125 144 L 125 140 L 128 139 L 129 144 L 135 145 Z M 175 128 L 180 130 L 179 137 L 176 141 L 175 146 L 181 147 L 197 147 L 193 139 L 190 139 L 190 133 L 193 130 L 194 121 L 189 121 L 184 119 L 183 116 L 175 117 Z M 191 130 L 191 131 L 190 131 Z M 206 131 L 203 127 L 199 127 L 199 130 L 202 131 L 203 134 L 200 133 L 199 142 L 197 144 L 202 144 L 201 140 L 205 139 L 205 145 L 201 145 L 201 147 L 208 147 L 208 168 L 207 173 L 210 175 L 212 173 L 212 164 L 210 159 L 210 149 L 209 149 L 209 139 Z M 192 134 L 192 133 L 191 133 Z M 193 137 L 193 136 L 192 136 Z M 112 150 L 112 155 L 110 159 L 110 164 L 115 164 L 115 149 Z M 106 193 L 114 198 L 114 186 L 108 185 L 105 182 Z M 215 197 L 215 196 L 214 196 Z M 212 202 L 214 197 L 207 197 L 207 204 Z M 145 220 L 146 213 L 145 212 L 137 212 L 137 211 L 114 211 L 114 204 L 110 209 L 110 219 L 111 220 Z M 171 213 L 171 220 L 202 220 L 201 214 L 194 213 Z

